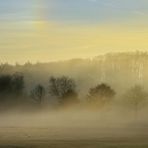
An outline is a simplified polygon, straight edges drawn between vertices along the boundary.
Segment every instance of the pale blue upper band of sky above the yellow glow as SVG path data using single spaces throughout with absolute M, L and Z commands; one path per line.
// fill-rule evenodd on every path
M 43 18 L 52 21 L 88 23 L 125 21 L 147 15 L 148 1 L 0 0 L 0 20 L 36 20 L 40 18 L 39 13 L 35 13 L 36 10 L 44 12 Z

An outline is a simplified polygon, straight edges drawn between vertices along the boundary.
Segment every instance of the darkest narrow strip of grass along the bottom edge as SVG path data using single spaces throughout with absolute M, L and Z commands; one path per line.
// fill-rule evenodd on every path
M 122 141 L 122 139 L 121 139 Z M 0 148 L 148 148 L 148 143 L 134 141 L 52 140 L 24 141 L 0 145 Z

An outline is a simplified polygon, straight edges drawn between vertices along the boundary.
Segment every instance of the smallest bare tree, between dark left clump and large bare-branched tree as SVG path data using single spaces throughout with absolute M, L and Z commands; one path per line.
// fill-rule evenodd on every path
M 45 88 L 42 85 L 37 85 L 32 91 L 31 91 L 31 97 L 38 102 L 39 104 L 42 103 L 43 98 L 45 97 Z

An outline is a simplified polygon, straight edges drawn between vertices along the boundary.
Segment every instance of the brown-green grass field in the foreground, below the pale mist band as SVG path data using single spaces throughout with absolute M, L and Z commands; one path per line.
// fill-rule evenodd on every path
M 122 135 L 120 132 L 122 131 Z M 148 136 L 120 129 L 0 128 L 0 148 L 148 148 Z M 141 130 L 142 131 L 142 130 Z M 145 132 L 146 133 L 146 132 Z

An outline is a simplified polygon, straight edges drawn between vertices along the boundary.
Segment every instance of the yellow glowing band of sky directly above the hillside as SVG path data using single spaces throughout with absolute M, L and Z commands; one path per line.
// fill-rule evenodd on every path
M 0 62 L 12 64 L 147 49 L 148 28 L 144 23 L 65 25 L 36 21 L 0 25 Z

